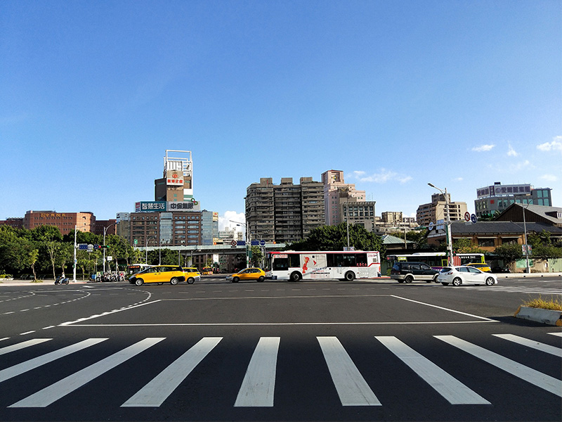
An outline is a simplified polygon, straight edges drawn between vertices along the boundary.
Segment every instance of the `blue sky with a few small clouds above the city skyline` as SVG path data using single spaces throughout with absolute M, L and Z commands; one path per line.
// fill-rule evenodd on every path
M 501 181 L 562 207 L 562 2 L 0 1 L 0 219 L 202 208 L 342 170 L 377 215 Z

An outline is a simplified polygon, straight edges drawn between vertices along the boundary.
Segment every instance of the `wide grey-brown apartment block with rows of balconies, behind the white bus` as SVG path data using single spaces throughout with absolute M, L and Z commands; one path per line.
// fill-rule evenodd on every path
M 273 184 L 263 177 L 247 188 L 246 229 L 251 238 L 277 243 L 292 243 L 324 225 L 323 185 L 312 177 L 283 177 Z

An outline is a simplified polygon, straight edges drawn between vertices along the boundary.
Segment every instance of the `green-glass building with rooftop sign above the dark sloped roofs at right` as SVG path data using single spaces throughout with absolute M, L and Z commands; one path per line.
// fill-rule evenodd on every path
M 476 217 L 504 212 L 512 203 L 552 206 L 551 188 L 533 188 L 530 184 L 502 185 L 497 181 L 491 186 L 476 190 L 474 208 Z

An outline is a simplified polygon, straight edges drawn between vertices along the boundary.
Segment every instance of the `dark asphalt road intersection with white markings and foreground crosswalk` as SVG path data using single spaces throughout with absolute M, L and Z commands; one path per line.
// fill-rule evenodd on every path
M 560 421 L 560 278 L 0 286 L 1 421 Z M 558 296 L 559 297 L 559 296 Z

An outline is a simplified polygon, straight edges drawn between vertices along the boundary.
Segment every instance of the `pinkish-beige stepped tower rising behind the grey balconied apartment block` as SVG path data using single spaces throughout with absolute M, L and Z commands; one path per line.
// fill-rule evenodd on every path
M 322 173 L 324 187 L 325 224 L 335 226 L 344 222 L 343 204 L 351 201 L 365 200 L 365 191 L 357 191 L 355 184 L 346 184 L 344 172 L 328 170 Z

